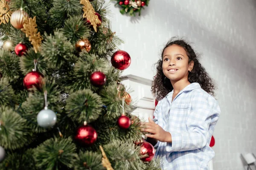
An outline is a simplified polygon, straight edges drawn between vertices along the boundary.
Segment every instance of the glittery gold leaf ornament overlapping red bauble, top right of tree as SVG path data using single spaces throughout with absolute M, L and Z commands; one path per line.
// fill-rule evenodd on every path
M 101 24 L 99 17 L 96 15 L 94 8 L 89 0 L 80 0 L 80 3 L 83 5 L 83 18 L 87 18 L 90 21 L 91 25 L 95 32 L 97 32 L 97 26 Z

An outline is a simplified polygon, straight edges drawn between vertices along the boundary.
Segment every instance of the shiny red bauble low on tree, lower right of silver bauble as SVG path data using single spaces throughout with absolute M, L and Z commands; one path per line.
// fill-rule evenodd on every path
M 96 130 L 89 125 L 82 125 L 77 128 L 75 140 L 83 146 L 91 146 L 97 140 Z

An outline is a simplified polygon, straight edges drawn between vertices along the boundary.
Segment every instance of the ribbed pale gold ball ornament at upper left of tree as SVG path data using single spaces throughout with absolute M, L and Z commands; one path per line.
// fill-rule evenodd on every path
M 10 22 L 14 28 L 21 29 L 23 28 L 23 23 L 27 18 L 29 18 L 29 14 L 20 8 L 12 13 Z

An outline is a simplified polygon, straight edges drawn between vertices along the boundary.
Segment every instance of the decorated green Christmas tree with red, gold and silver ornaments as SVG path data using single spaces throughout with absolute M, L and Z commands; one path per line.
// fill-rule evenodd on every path
M 121 83 L 131 58 L 90 1 L 0 0 L 1 170 L 160 170 Z

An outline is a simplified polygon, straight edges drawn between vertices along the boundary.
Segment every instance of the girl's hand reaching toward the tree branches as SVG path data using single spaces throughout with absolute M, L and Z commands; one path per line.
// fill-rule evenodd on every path
M 142 123 L 142 131 L 149 132 L 151 134 L 145 134 L 147 137 L 157 139 L 160 142 L 172 142 L 172 135 L 169 132 L 163 130 L 162 127 L 155 124 L 155 122 L 148 118 L 149 122 Z

